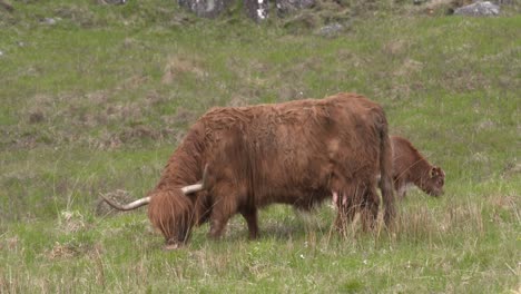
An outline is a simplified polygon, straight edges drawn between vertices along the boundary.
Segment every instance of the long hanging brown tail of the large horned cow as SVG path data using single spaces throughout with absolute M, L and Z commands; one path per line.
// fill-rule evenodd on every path
M 383 114 L 383 112 L 382 112 Z M 393 151 L 391 139 L 389 137 L 387 120 L 385 115 L 381 117 L 380 128 L 380 190 L 382 192 L 382 200 L 385 206 L 384 220 L 387 226 L 391 226 L 396 214 L 394 208 L 394 189 L 393 189 Z

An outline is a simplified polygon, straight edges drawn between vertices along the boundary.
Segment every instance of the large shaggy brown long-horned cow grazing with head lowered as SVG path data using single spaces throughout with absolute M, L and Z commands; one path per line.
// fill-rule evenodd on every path
M 191 227 L 208 218 L 209 235 L 219 237 L 236 213 L 254 238 L 257 209 L 274 203 L 309 209 L 336 195 L 360 199 L 375 218 L 377 173 L 390 223 L 394 195 L 387 121 L 382 108 L 362 96 L 214 108 L 188 130 L 148 197 L 112 206 L 131 209 L 149 203 L 150 222 L 167 245 L 185 242 Z M 203 183 L 185 187 L 203 174 Z

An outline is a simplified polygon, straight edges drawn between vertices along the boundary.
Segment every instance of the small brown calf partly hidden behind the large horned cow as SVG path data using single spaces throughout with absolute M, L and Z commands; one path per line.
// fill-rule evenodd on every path
M 393 147 L 393 180 L 400 198 L 405 196 L 407 186 L 414 184 L 432 196 L 443 194 L 445 173 L 429 161 L 405 138 L 391 136 Z

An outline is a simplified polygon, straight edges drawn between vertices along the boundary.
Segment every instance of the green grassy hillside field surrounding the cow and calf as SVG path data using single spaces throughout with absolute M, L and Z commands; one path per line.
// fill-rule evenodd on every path
M 433 13 L 393 1 L 255 24 L 175 1 L 11 1 L 0 8 L 0 293 L 520 293 L 521 13 Z M 49 19 L 52 18 L 53 22 Z M 306 24 L 307 23 L 307 24 Z M 312 23 L 313 26 L 309 26 Z M 100 193 L 151 189 L 213 106 L 356 91 L 446 173 L 412 190 L 394 231 L 344 235 L 324 205 L 194 231 L 165 252 L 146 209 L 97 213 Z

